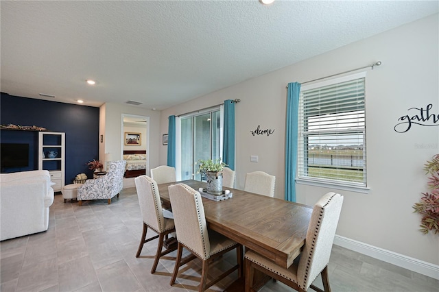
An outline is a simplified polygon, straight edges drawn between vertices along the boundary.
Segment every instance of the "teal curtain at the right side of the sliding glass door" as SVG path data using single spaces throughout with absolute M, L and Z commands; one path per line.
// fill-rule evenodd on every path
M 222 161 L 235 170 L 235 103 L 231 99 L 224 101 Z

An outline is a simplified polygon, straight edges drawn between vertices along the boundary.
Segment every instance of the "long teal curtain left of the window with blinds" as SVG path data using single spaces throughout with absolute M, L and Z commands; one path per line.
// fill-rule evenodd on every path
M 285 137 L 285 199 L 296 202 L 297 135 L 300 83 L 288 84 Z

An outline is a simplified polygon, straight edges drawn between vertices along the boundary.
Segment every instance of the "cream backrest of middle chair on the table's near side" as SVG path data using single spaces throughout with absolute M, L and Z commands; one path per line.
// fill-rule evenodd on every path
M 186 184 L 174 184 L 168 189 L 178 242 L 203 260 L 208 259 L 211 244 L 200 193 Z

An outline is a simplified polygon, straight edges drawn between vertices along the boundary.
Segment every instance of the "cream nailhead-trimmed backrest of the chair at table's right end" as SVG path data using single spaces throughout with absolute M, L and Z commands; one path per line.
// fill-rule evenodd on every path
M 329 263 L 342 204 L 342 195 L 327 193 L 313 207 L 297 270 L 298 286 L 305 291 Z

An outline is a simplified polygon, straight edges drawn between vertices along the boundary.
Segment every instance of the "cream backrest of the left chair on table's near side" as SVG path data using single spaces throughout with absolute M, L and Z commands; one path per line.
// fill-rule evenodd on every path
M 136 184 L 143 222 L 156 232 L 163 232 L 165 230 L 165 219 L 163 218 L 157 183 L 147 175 L 134 178 L 134 183 Z

